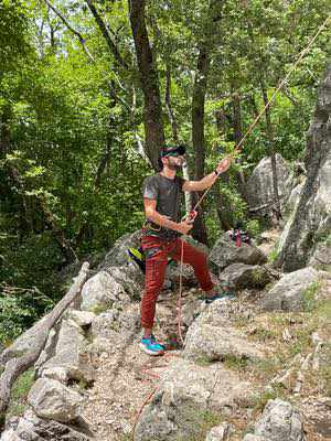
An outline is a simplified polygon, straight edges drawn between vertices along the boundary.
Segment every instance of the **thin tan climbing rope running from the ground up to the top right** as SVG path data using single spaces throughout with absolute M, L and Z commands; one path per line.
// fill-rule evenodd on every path
M 317 37 L 319 36 L 319 34 L 323 31 L 323 29 L 327 26 L 329 20 L 331 19 L 331 14 L 328 15 L 328 18 L 324 20 L 324 22 L 321 24 L 321 26 L 319 28 L 318 32 L 312 36 L 312 39 L 310 40 L 309 44 L 301 51 L 297 62 L 292 65 L 292 67 L 290 68 L 290 71 L 288 72 L 288 74 L 285 76 L 285 78 L 279 83 L 277 89 L 274 92 L 271 98 L 268 100 L 268 103 L 265 105 L 265 107 L 260 110 L 260 112 L 257 115 L 257 117 L 254 119 L 254 121 L 252 122 L 252 125 L 248 127 L 245 136 L 241 139 L 241 141 L 238 142 L 238 144 L 236 146 L 235 150 L 233 151 L 233 153 L 231 153 L 227 158 L 233 160 L 234 157 L 236 155 L 236 153 L 238 153 L 242 149 L 243 149 L 243 144 L 246 141 L 246 139 L 249 137 L 249 135 L 252 133 L 253 129 L 255 128 L 255 126 L 258 123 L 258 121 L 260 120 L 260 118 L 263 117 L 263 115 L 266 112 L 266 110 L 268 109 L 268 107 L 270 106 L 270 104 L 274 101 L 274 99 L 276 98 L 276 96 L 278 95 L 278 93 L 280 92 L 280 89 L 285 86 L 285 84 L 288 82 L 289 77 L 291 76 L 291 74 L 293 73 L 293 71 L 297 68 L 298 64 L 301 62 L 301 60 L 303 58 L 303 56 L 309 52 L 310 47 L 312 46 L 312 44 L 314 43 L 314 41 L 317 40 Z M 207 187 L 205 190 L 205 192 L 202 194 L 202 196 L 199 198 L 199 201 L 196 202 L 196 204 L 194 205 L 193 209 L 191 213 L 196 213 L 197 207 L 201 205 L 202 201 L 205 198 L 205 196 L 207 195 L 209 191 L 211 190 L 211 187 L 214 185 L 214 183 L 217 181 L 218 175 L 215 175 L 215 180 L 212 183 L 212 185 L 210 187 Z M 190 215 L 189 215 L 190 216 Z M 186 216 L 188 218 L 188 216 Z M 190 218 L 190 217 L 189 217 Z M 179 337 L 181 340 L 181 343 L 183 344 L 183 337 L 182 337 L 182 332 L 181 332 L 181 297 L 182 297 L 182 277 L 183 277 L 183 245 L 182 245 L 182 251 L 181 251 L 181 265 L 180 265 L 180 287 L 179 287 L 179 297 L 178 297 L 178 334 Z

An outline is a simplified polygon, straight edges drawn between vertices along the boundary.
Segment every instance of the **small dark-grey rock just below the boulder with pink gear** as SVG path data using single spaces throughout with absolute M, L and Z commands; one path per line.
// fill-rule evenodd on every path
M 233 289 L 264 288 L 273 278 L 270 272 L 258 265 L 233 263 L 220 273 L 220 279 L 226 281 Z

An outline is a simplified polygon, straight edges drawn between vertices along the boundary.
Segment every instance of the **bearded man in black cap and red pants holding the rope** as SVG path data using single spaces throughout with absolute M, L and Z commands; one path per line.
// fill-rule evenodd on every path
M 229 159 L 221 161 L 213 173 L 200 181 L 185 181 L 177 175 L 185 161 L 183 146 L 164 147 L 160 152 L 161 171 L 145 180 L 142 186 L 146 225 L 141 245 L 146 254 L 145 292 L 141 300 L 141 326 L 143 335 L 141 348 L 149 355 L 162 355 L 164 347 L 152 334 L 156 303 L 163 286 L 168 257 L 181 260 L 182 240 L 180 234 L 188 234 L 192 222 L 180 220 L 180 200 L 183 192 L 202 191 L 211 186 L 220 173 L 231 164 Z M 194 269 L 206 303 L 220 299 L 213 287 L 203 252 L 183 241 L 183 262 Z

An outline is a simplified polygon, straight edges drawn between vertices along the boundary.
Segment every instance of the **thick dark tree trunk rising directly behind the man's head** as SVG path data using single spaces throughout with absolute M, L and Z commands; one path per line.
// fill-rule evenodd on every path
M 130 23 L 135 40 L 140 83 L 145 97 L 143 125 L 146 153 L 159 171 L 159 150 L 164 144 L 159 79 L 153 62 L 145 19 L 146 0 L 129 0 Z

